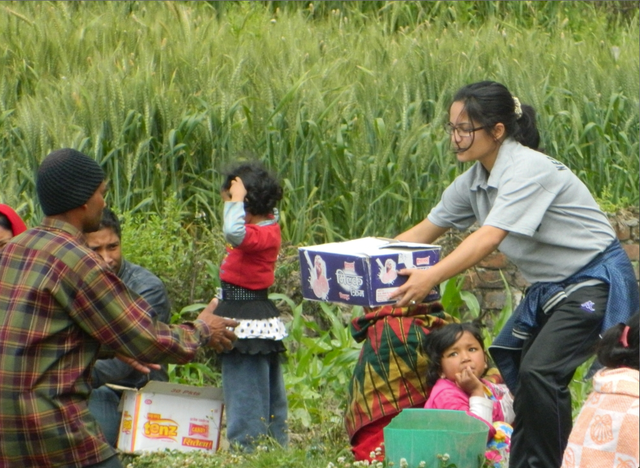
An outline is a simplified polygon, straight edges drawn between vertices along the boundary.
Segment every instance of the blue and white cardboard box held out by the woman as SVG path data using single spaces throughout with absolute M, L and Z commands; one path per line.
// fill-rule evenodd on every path
M 407 281 L 403 268 L 427 269 L 440 260 L 440 246 L 363 237 L 299 247 L 302 295 L 312 301 L 365 307 L 393 304 L 389 296 Z M 425 302 L 440 299 L 437 288 Z

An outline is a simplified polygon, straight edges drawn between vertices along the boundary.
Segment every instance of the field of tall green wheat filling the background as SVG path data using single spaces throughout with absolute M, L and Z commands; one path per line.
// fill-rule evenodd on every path
M 629 7 L 631 5 L 631 8 Z M 634 6 L 635 5 L 635 6 Z M 285 239 L 391 236 L 459 174 L 455 90 L 505 83 L 595 195 L 638 203 L 635 2 L 3 2 L 0 200 L 32 224 L 34 173 L 76 147 L 123 212 L 218 225 L 222 168 L 282 178 Z

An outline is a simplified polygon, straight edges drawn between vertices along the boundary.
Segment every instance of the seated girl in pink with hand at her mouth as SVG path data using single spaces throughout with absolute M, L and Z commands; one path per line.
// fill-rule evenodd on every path
M 480 328 L 469 322 L 446 325 L 427 336 L 425 350 L 427 383 L 433 388 L 424 407 L 466 411 L 484 421 L 489 427 L 489 446 L 503 449 L 500 454 L 506 462 L 513 398 L 506 385 L 482 378 L 489 364 Z

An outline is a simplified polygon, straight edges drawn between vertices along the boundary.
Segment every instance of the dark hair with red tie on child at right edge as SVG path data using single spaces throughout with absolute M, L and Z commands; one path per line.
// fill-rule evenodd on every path
M 636 312 L 631 316 L 627 323 L 619 323 L 609 328 L 602 335 L 602 340 L 598 343 L 596 352 L 598 361 L 605 367 L 630 367 L 638 369 L 638 340 L 639 330 L 638 322 L 640 313 Z M 627 331 L 627 346 L 622 343 L 622 334 L 624 329 L 629 327 Z

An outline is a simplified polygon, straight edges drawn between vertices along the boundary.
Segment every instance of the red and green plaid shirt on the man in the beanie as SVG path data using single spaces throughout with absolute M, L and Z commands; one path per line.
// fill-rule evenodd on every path
M 45 218 L 0 252 L 0 467 L 84 467 L 115 455 L 87 409 L 101 344 L 183 363 L 210 330 L 172 326 L 127 290 L 82 233 Z

